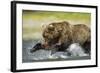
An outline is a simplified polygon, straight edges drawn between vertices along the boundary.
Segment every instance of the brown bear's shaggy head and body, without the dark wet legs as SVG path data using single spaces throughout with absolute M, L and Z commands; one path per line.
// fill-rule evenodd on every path
M 53 22 L 47 25 L 43 30 L 43 39 L 45 47 L 53 45 L 71 43 L 79 43 L 83 45 L 85 42 L 90 42 L 90 28 L 85 24 L 71 25 L 67 21 Z

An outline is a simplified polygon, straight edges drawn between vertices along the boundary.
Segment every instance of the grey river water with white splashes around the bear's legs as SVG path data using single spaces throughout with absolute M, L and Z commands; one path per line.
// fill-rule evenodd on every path
M 86 60 L 90 59 L 90 55 L 84 53 L 84 50 L 77 45 L 76 43 L 71 44 L 68 48 L 68 51 L 71 55 L 68 55 L 68 52 L 56 52 L 51 55 L 51 50 L 37 50 L 33 53 L 30 53 L 30 49 L 37 44 L 37 40 L 23 40 L 22 48 L 22 62 L 43 62 L 43 61 L 68 61 L 68 60 Z

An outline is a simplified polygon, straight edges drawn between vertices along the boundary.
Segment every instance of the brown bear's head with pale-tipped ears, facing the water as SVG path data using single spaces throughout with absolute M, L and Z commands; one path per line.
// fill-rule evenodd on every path
M 60 31 L 57 30 L 54 23 L 51 23 L 46 26 L 42 35 L 45 43 L 48 45 L 52 45 L 58 41 L 60 34 Z

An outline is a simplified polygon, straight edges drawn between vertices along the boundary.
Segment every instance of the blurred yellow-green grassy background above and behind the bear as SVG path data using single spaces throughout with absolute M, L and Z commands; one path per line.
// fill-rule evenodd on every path
M 68 21 L 90 26 L 90 20 L 90 13 L 23 10 L 23 39 L 42 38 L 42 26 L 52 22 Z

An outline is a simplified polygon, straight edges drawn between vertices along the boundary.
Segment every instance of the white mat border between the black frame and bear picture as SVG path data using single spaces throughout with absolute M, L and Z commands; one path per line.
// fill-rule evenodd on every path
M 21 69 L 38 69 L 38 68 L 52 68 L 52 67 L 71 67 L 71 66 L 85 66 L 95 65 L 96 59 L 96 37 L 95 37 L 95 9 L 81 8 L 81 7 L 60 7 L 60 6 L 45 6 L 45 5 L 28 5 L 17 4 L 16 28 L 17 28 L 17 70 Z M 75 61 L 55 61 L 55 62 L 36 62 L 36 63 L 22 63 L 22 10 L 45 10 L 45 11 L 66 11 L 66 12 L 86 12 L 91 13 L 91 59 L 90 60 L 75 60 Z

